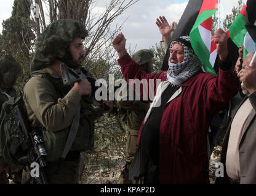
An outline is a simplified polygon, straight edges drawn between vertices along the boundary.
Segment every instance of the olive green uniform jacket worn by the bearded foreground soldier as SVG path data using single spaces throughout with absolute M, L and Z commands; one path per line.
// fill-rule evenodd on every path
M 53 78 L 60 78 L 52 67 L 44 72 Z M 41 127 L 49 161 L 58 160 L 63 153 L 66 137 L 73 116 L 81 104 L 81 116 L 78 134 L 70 151 L 86 151 L 94 146 L 94 120 L 102 116 L 89 101 L 70 90 L 60 98 L 52 83 L 43 75 L 34 75 L 23 89 L 23 99 L 31 122 L 31 127 Z

